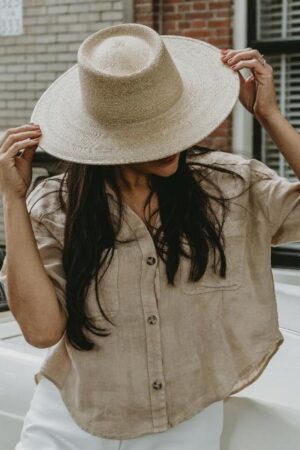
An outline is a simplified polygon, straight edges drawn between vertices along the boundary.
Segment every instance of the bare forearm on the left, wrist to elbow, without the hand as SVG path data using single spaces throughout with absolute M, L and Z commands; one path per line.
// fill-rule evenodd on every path
M 25 199 L 3 197 L 9 307 L 26 340 L 51 345 L 62 317 L 54 286 L 43 266 Z

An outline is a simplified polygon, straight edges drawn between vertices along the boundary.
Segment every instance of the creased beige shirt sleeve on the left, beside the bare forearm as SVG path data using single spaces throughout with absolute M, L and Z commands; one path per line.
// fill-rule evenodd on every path
M 49 200 L 41 198 L 44 189 L 38 185 L 34 191 L 27 197 L 27 209 L 32 224 L 33 233 L 37 243 L 43 265 L 53 283 L 56 291 L 57 300 L 61 304 L 67 317 L 68 312 L 65 300 L 66 278 L 62 263 L 63 249 L 63 223 L 59 210 L 48 212 Z M 34 202 L 33 202 L 34 201 Z M 30 208 L 30 205 L 33 207 Z M 0 271 L 0 281 L 7 293 L 6 286 L 6 257 Z

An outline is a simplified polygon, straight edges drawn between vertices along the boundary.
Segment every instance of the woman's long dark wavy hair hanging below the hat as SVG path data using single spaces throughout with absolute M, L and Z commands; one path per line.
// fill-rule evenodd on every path
M 152 195 L 156 193 L 161 226 L 155 229 L 148 220 L 147 227 L 157 254 L 165 263 L 168 283 L 172 285 L 181 255 L 191 259 L 189 279 L 199 280 L 206 270 L 210 248 L 215 255 L 215 271 L 218 270 L 220 277 L 226 275 L 222 229 L 229 199 L 223 196 L 217 183 L 213 182 L 212 177 L 208 177 L 208 173 L 213 170 L 242 180 L 243 177 L 221 165 L 193 161 L 193 156 L 197 157 L 209 151 L 211 150 L 194 145 L 180 153 L 176 173 L 168 177 L 149 176 L 151 190 L 145 211 L 150 205 Z M 191 157 L 189 161 L 188 156 Z M 199 167 L 195 170 L 196 166 L 200 166 L 201 170 Z M 57 180 L 60 182 L 58 198 L 66 214 L 63 249 L 66 306 L 69 314 L 66 333 L 74 348 L 92 350 L 95 344 L 86 337 L 84 328 L 98 336 L 107 336 L 110 333 L 105 328 L 97 328 L 89 320 L 85 314 L 84 302 L 88 288 L 94 281 L 99 309 L 106 320 L 114 325 L 101 306 L 98 274 L 103 265 L 107 270 L 113 257 L 116 236 L 122 223 L 123 203 L 113 166 L 70 162 L 66 163 L 65 168 L 63 177 Z M 201 180 L 213 184 L 218 195 L 209 194 L 202 187 Z M 117 229 L 110 214 L 105 182 L 109 182 L 116 192 Z M 65 192 L 68 194 L 66 197 L 63 195 Z M 215 213 L 214 203 L 221 207 L 221 217 Z M 95 211 L 101 211 L 101 214 L 95 214 Z M 190 252 L 184 250 L 183 241 L 188 243 Z M 219 256 L 218 260 L 216 254 Z

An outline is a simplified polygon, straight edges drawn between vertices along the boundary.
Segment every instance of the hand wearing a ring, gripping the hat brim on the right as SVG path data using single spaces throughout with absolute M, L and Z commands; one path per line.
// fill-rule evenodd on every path
M 273 79 L 273 68 L 258 50 L 221 50 L 221 59 L 240 77 L 239 99 L 257 120 L 267 120 L 279 112 Z M 244 78 L 239 70 L 250 69 L 251 75 Z

